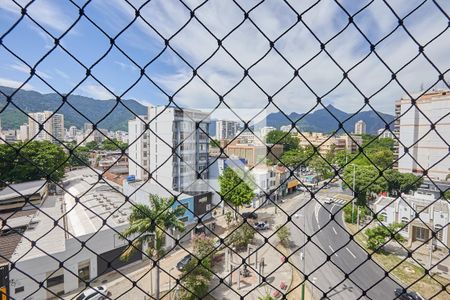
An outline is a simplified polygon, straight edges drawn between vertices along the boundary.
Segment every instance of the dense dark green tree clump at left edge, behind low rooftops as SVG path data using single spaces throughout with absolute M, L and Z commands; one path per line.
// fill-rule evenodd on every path
M 0 179 L 10 183 L 39 180 L 47 176 L 53 181 L 60 181 L 64 177 L 67 160 L 64 150 L 48 141 L 1 144 L 0 157 Z

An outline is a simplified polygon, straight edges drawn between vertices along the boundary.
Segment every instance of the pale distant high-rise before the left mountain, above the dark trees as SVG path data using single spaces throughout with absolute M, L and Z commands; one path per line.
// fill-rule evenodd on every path
M 37 141 L 63 141 L 64 115 L 51 111 L 30 113 L 28 117 L 28 136 Z M 43 130 L 39 130 L 43 125 Z

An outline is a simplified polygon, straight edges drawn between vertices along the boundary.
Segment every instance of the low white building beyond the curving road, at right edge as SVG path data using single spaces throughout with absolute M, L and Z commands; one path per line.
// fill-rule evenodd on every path
M 450 245 L 450 203 L 421 195 L 402 195 L 400 198 L 381 196 L 374 203 L 375 212 L 385 224 L 408 224 L 400 233 L 408 239 L 409 246 L 415 241 L 425 242 L 431 237 L 430 228 L 436 233 L 433 243 L 440 248 Z M 419 217 L 416 217 L 416 212 Z

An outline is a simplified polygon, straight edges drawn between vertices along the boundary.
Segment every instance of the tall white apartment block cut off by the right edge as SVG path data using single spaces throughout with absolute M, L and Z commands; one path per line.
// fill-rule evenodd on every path
M 396 102 L 394 133 L 400 143 L 395 152 L 400 172 L 422 174 L 428 170 L 431 178 L 445 180 L 450 173 L 449 111 L 449 90 L 428 92 L 416 100 L 415 106 L 406 97 Z M 408 148 L 406 154 L 405 147 Z

